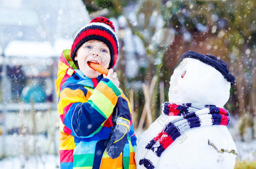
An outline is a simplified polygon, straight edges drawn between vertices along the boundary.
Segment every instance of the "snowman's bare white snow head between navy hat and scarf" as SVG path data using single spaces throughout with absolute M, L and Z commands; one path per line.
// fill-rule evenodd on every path
M 181 74 L 186 71 L 184 78 Z M 204 80 L 202 80 L 204 79 Z M 230 82 L 212 66 L 185 58 L 170 78 L 169 102 L 224 106 L 230 96 Z

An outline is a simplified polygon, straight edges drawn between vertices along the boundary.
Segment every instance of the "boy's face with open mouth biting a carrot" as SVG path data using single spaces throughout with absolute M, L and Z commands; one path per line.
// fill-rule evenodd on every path
M 97 78 L 101 73 L 90 68 L 88 63 L 90 61 L 96 61 L 104 68 L 108 68 L 110 64 L 110 50 L 102 41 L 88 40 L 78 49 L 75 61 L 78 62 L 79 70 L 86 77 Z

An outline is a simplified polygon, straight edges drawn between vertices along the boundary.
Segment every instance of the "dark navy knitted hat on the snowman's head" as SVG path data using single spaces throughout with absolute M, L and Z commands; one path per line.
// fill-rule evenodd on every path
M 219 71 L 224 76 L 224 78 L 231 83 L 231 86 L 235 84 L 235 77 L 227 69 L 227 63 L 225 63 L 220 58 L 217 58 L 214 55 L 210 55 L 210 54 L 202 55 L 200 53 L 196 53 L 192 50 L 189 50 L 188 52 L 184 53 L 181 58 L 182 58 L 181 60 L 183 60 L 184 58 L 193 58 L 201 62 L 204 62 L 207 65 L 210 65 L 215 69 L 217 69 L 217 71 Z

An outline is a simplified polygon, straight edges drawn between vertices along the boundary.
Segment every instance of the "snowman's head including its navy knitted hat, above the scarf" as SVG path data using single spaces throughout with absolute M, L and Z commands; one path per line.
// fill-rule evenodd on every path
M 188 51 L 171 76 L 169 102 L 223 107 L 229 99 L 230 86 L 234 84 L 235 78 L 224 61 L 213 55 Z

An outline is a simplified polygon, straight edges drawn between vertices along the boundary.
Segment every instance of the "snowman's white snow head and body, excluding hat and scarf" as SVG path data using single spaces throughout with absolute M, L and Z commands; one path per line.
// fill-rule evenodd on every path
M 230 82 L 212 66 L 193 58 L 185 58 L 175 68 L 170 79 L 170 103 L 211 104 L 223 107 L 229 99 Z M 135 159 L 137 169 L 145 169 L 139 160 L 145 155 L 145 147 L 157 134 L 177 116 L 162 114 L 149 126 L 137 144 Z M 203 126 L 189 129 L 179 136 L 160 156 L 156 169 L 233 169 L 235 155 L 217 149 L 234 149 L 235 143 L 226 126 Z

